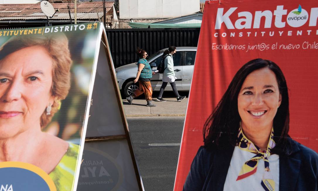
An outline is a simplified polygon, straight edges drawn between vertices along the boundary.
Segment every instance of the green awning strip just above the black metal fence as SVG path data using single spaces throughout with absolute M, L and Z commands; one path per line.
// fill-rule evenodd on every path
M 157 24 L 157 23 L 130 23 L 128 25 L 133 28 L 200 28 L 201 23 L 190 24 Z

